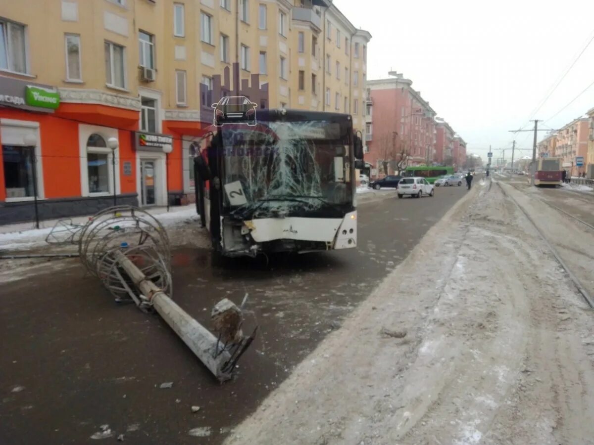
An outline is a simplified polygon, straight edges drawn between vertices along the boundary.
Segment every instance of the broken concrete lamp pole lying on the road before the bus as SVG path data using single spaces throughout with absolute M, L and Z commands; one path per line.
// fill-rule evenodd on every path
M 220 351 L 219 342 L 213 333 L 189 316 L 175 301 L 150 279 L 147 279 L 132 260 L 124 255 L 124 252 L 115 250 L 112 255 L 154 310 L 163 317 L 163 320 L 179 335 L 188 348 L 200 358 L 208 370 L 220 382 L 229 380 L 232 372 L 232 368 L 229 369 L 229 364 L 233 357 L 228 351 Z M 217 349 L 219 350 L 217 351 Z

